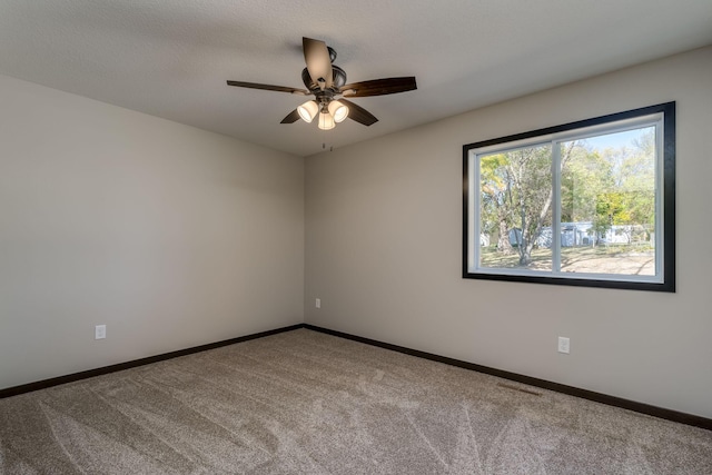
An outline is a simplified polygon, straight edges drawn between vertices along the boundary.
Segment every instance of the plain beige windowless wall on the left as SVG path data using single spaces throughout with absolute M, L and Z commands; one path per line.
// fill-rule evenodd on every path
M 304 159 L 8 77 L 0 105 L 0 388 L 304 320 Z

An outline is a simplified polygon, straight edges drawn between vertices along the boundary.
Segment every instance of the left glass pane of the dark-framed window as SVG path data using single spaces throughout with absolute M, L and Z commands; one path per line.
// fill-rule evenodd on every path
M 481 268 L 552 270 L 552 147 L 479 159 Z M 548 235 L 543 229 L 548 228 Z

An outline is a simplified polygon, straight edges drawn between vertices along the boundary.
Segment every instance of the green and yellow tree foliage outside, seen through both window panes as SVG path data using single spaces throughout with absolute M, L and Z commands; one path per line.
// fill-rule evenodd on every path
M 592 221 L 593 232 L 612 226 L 652 229 L 655 218 L 654 129 L 632 147 L 594 148 L 561 142 L 561 219 Z M 532 261 L 543 227 L 552 225 L 552 151 L 548 144 L 479 158 L 483 232 L 518 230 L 520 265 Z M 630 241 L 630 240 L 629 240 Z M 511 249 L 508 243 L 506 247 Z

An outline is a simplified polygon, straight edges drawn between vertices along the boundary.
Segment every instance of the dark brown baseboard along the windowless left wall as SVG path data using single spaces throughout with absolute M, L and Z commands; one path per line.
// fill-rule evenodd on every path
M 10 396 L 17 396 L 19 394 L 31 393 L 33 390 L 46 389 L 48 387 L 58 386 L 60 384 L 73 383 L 80 379 L 87 379 L 95 376 L 101 376 L 109 373 L 116 373 L 123 369 L 135 368 L 137 366 L 150 365 L 151 363 L 158 363 L 165 359 L 177 358 L 178 356 L 186 356 L 194 353 L 219 348 L 221 346 L 234 345 L 236 343 L 247 342 L 256 338 L 263 338 L 265 336 L 276 335 L 283 331 L 290 331 L 290 330 L 295 330 L 303 327 L 304 327 L 304 324 L 291 325 L 288 327 L 277 328 L 274 330 L 260 331 L 251 335 L 240 336 L 237 338 L 224 339 L 221 342 L 209 343 L 207 345 L 194 346 L 191 348 L 185 348 L 176 352 L 164 353 L 161 355 L 149 356 L 147 358 L 134 359 L 131 362 L 119 363 L 116 365 L 103 366 L 101 368 L 88 369 L 86 372 L 73 373 L 66 376 L 58 376 L 55 378 L 43 379 L 34 383 L 28 383 L 20 386 L 13 386 L 6 389 L 0 389 L 0 399 L 4 397 L 10 397 Z

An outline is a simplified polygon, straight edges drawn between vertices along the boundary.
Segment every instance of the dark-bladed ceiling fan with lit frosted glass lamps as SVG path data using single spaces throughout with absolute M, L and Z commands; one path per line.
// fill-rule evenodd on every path
M 304 59 L 307 67 L 301 71 L 301 80 L 306 89 L 288 88 L 284 86 L 261 85 L 257 82 L 227 81 L 228 86 L 240 88 L 264 89 L 268 91 L 289 92 L 298 96 L 314 96 L 287 117 L 280 123 L 294 123 L 299 118 L 312 122 L 318 115 L 318 127 L 330 130 L 347 117 L 364 126 L 378 121 L 376 117 L 363 107 L 345 98 L 369 96 L 385 96 L 416 89 L 415 77 L 372 79 L 369 81 L 346 83 L 346 72 L 336 65 L 336 51 L 327 47 L 324 41 L 301 38 Z

